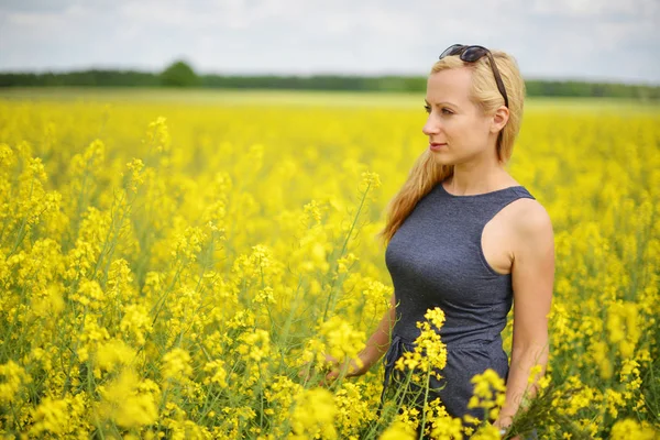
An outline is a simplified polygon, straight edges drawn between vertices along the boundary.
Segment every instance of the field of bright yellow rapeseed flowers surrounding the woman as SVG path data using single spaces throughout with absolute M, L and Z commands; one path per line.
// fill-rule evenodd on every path
M 317 385 L 387 308 L 375 234 L 427 147 L 422 106 L 0 90 L 3 438 L 405 439 L 422 417 L 376 417 L 382 363 Z M 509 170 L 557 255 L 548 381 L 518 426 L 657 438 L 660 107 L 530 100 Z M 424 419 L 460 438 L 441 408 Z

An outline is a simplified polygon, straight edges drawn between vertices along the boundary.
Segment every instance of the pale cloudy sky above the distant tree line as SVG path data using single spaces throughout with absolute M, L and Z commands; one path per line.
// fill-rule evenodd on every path
M 453 43 L 527 78 L 660 85 L 660 0 L 0 0 L 0 70 L 426 75 Z

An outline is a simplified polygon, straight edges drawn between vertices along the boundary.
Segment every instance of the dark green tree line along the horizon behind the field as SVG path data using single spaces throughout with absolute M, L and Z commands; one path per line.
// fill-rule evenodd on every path
M 660 100 L 660 86 L 578 80 L 525 81 L 530 97 L 603 97 Z M 197 75 L 184 62 L 161 73 L 89 69 L 68 73 L 0 73 L 0 87 L 201 87 L 227 89 L 424 91 L 425 77 Z

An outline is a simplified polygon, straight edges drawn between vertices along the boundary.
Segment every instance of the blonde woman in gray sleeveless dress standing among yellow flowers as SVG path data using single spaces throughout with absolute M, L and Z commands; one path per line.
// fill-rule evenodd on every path
M 504 430 L 531 367 L 540 364 L 544 373 L 554 279 L 550 218 L 505 169 L 524 97 L 516 62 L 504 52 L 453 45 L 433 65 L 422 129 L 429 146 L 392 200 L 381 231 L 395 289 L 392 307 L 360 354 L 363 365 L 351 361 L 346 374 L 364 374 L 386 351 L 385 395 L 398 374 L 396 359 L 419 334 L 416 322 L 440 307 L 448 359 L 443 378 L 431 378 L 431 387 L 444 388 L 429 400 L 439 396 L 453 417 L 483 418 L 483 411 L 468 408 L 470 380 L 493 369 L 506 381 L 506 403 L 494 424 Z M 512 302 L 509 366 L 501 332 Z M 339 374 L 336 367 L 326 378 Z

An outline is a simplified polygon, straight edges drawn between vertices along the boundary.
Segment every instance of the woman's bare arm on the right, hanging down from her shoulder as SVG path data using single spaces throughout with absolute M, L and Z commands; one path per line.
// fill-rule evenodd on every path
M 546 209 L 537 201 L 526 204 L 518 216 L 514 265 L 514 338 L 512 364 L 506 386 L 506 400 L 495 425 L 506 427 L 518 411 L 528 388 L 531 367 L 541 365 L 541 373 L 529 385 L 528 396 L 537 393 L 537 382 L 548 364 L 548 315 L 554 284 L 554 237 Z

